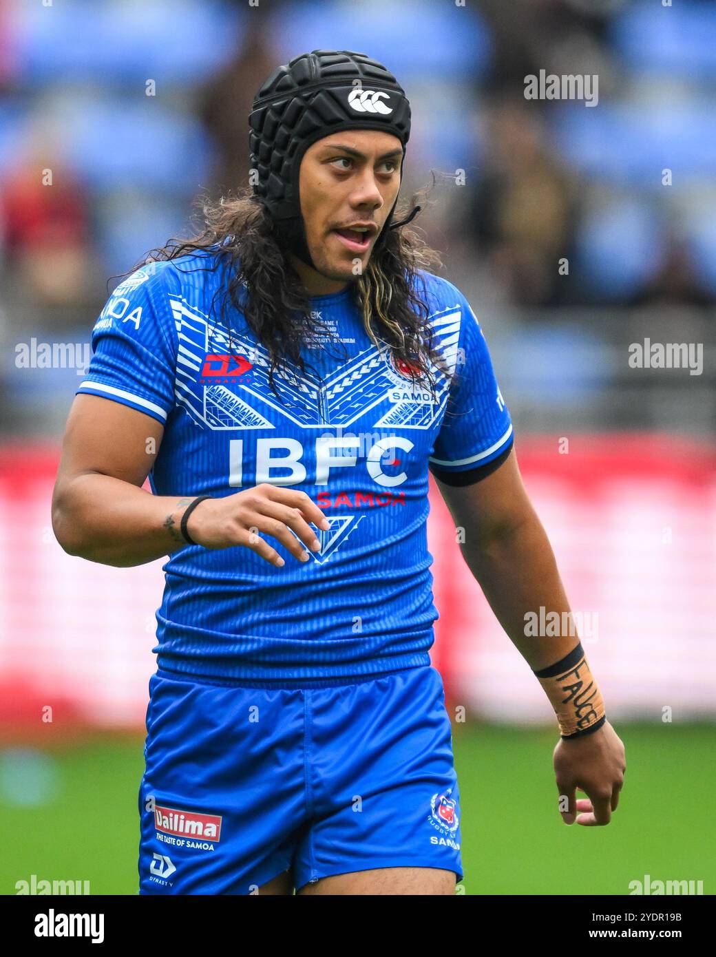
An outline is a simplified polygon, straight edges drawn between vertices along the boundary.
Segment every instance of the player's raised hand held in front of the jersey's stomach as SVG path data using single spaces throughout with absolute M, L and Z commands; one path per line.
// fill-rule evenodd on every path
M 307 562 L 310 556 L 301 543 L 312 551 L 321 549 L 309 522 L 324 530 L 329 527 L 324 513 L 305 492 L 264 482 L 235 495 L 200 501 L 187 520 L 187 531 L 197 545 L 205 548 L 244 545 L 280 567 L 285 562 L 261 535 L 275 538 L 299 561 Z M 289 529 L 293 529 L 298 539 Z

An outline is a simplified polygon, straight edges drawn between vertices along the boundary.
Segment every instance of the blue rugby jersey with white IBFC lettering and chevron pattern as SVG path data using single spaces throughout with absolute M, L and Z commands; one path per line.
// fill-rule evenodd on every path
M 334 345 L 326 337 L 305 345 L 305 374 L 275 372 L 279 401 L 267 350 L 236 311 L 230 354 L 213 305 L 223 267 L 208 265 L 211 254 L 181 256 L 126 278 L 94 326 L 77 391 L 164 425 L 148 477 L 155 495 L 221 497 L 270 482 L 306 492 L 330 528 L 315 529 L 321 551 L 305 563 L 266 536 L 282 568 L 240 545 L 173 552 L 157 612 L 158 665 L 286 683 L 428 664 L 438 616 L 429 469 L 454 484 L 474 480 L 476 467 L 512 444 L 469 303 L 451 282 L 422 274 L 436 345 L 457 373 L 436 370 L 434 401 L 385 344 L 371 342 L 350 287 L 314 297 Z

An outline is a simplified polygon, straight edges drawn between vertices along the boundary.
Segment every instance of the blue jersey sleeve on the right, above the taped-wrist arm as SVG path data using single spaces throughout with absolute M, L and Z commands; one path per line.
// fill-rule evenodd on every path
M 459 289 L 448 287 L 461 313 L 456 367 L 428 467 L 448 485 L 469 485 L 502 465 L 514 436 L 480 323 Z

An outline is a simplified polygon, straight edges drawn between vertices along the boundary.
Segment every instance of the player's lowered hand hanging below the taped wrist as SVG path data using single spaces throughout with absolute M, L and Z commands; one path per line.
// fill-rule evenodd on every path
M 612 725 L 607 721 L 593 734 L 572 741 L 560 738 L 553 760 L 565 824 L 575 820 L 587 826 L 609 824 L 626 770 L 624 745 Z M 577 800 L 577 789 L 583 790 L 589 800 Z

